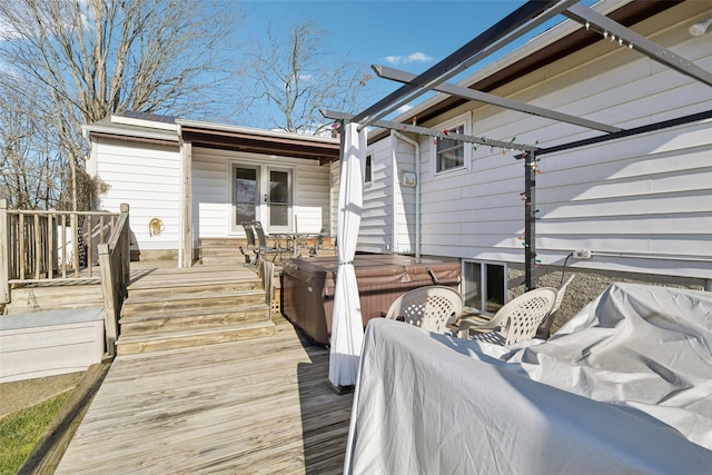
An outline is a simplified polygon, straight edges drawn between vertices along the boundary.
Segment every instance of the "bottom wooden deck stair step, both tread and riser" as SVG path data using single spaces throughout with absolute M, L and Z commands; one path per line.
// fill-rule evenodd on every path
M 219 328 L 192 329 L 161 333 L 148 336 L 121 335 L 116 343 L 117 355 L 159 352 L 164 349 L 214 345 L 240 339 L 273 336 L 275 324 L 271 320 L 233 325 Z

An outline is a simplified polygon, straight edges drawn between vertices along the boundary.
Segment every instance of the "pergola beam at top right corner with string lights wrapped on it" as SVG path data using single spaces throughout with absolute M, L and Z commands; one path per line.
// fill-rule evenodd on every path
M 596 27 L 602 30 L 602 32 L 614 36 L 614 41 L 620 40 L 623 44 L 631 44 L 634 50 L 642 52 L 653 61 L 657 61 L 670 69 L 689 76 L 700 82 L 704 82 L 708 86 L 712 86 L 712 72 L 700 68 L 694 62 L 637 34 L 597 11 L 576 3 L 566 9 L 563 14 L 583 26 L 587 24 L 587 28 Z

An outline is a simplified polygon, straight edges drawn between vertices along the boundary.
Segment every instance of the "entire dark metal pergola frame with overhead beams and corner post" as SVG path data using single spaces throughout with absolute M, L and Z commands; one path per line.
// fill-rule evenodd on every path
M 595 121 L 589 121 L 586 119 L 568 116 L 565 113 L 538 108 L 535 106 L 526 105 L 523 102 L 513 101 L 511 99 L 500 98 L 493 95 L 481 92 L 474 89 L 468 89 L 459 86 L 453 86 L 446 83 L 447 79 L 464 71 L 466 68 L 473 66 L 475 62 L 487 57 L 492 52 L 498 50 L 505 44 L 508 44 L 514 39 L 520 38 L 523 33 L 531 31 L 544 21 L 556 14 L 564 14 L 584 26 L 586 29 L 599 31 L 609 39 L 619 41 L 621 46 L 635 49 L 636 51 L 647 56 L 652 60 L 674 70 L 681 72 L 688 77 L 693 78 L 696 81 L 712 86 L 712 72 L 706 71 L 703 68 L 698 67 L 692 61 L 663 48 L 660 44 L 646 39 L 645 37 L 635 33 L 629 28 L 617 23 L 616 21 L 601 14 L 587 7 L 578 3 L 575 0 L 561 0 L 561 1 L 536 1 L 530 0 L 524 6 L 516 9 L 514 12 L 505 17 L 503 20 L 495 23 L 493 27 L 474 38 L 467 44 L 459 48 L 457 51 L 449 55 L 443 61 L 433 66 L 419 76 L 408 75 L 403 71 L 396 71 L 394 69 L 385 67 L 374 67 L 378 76 L 404 82 L 404 85 L 396 91 L 386 96 L 375 105 L 370 106 L 366 110 L 356 116 L 345 115 L 339 112 L 322 112 L 325 117 L 342 120 L 358 122 L 360 128 L 374 125 L 386 129 L 395 129 L 402 131 L 409 131 L 415 133 L 422 133 L 433 137 L 447 137 L 455 140 L 462 140 L 472 144 L 481 144 L 503 149 L 518 149 L 526 154 L 518 158 L 524 158 L 525 180 L 524 180 L 524 198 L 525 198 L 525 289 L 530 290 L 535 287 L 535 273 L 536 267 L 536 161 L 537 156 L 544 154 L 552 154 L 570 148 L 581 147 L 590 144 L 597 144 L 606 140 L 613 140 L 622 137 L 630 137 L 640 133 L 650 132 L 654 129 L 673 127 L 675 125 L 689 123 L 695 120 L 703 120 L 710 117 L 710 111 L 704 111 L 698 115 L 691 115 L 672 119 L 663 122 L 657 122 L 651 126 L 644 126 L 634 129 L 621 129 L 614 126 L 600 123 Z M 379 120 L 386 115 L 393 112 L 398 107 L 406 105 L 408 101 L 424 95 L 427 91 L 436 90 L 451 96 L 461 97 L 468 100 L 476 100 L 484 103 L 491 103 L 493 106 L 504 107 L 512 110 L 517 110 L 525 113 L 532 113 L 548 119 L 573 123 L 576 126 L 600 130 L 606 132 L 601 137 L 594 137 L 591 139 L 584 139 L 574 141 L 571 144 L 564 144 L 562 146 L 555 146 L 547 149 L 541 149 L 532 146 L 523 146 L 514 142 L 503 142 L 498 140 L 490 140 L 484 137 L 474 137 L 459 133 L 451 133 L 448 131 L 438 131 L 435 129 L 428 129 L 424 127 L 417 127 L 414 125 L 398 123 Z

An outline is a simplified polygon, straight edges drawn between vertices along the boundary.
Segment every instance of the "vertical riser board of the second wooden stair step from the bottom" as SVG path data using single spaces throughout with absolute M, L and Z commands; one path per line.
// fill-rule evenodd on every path
M 266 308 L 246 311 L 226 311 L 210 315 L 181 318 L 155 318 L 150 320 L 131 321 L 122 318 L 121 335 L 148 335 L 165 331 L 178 331 L 201 328 L 219 328 L 221 326 L 269 321 L 269 310 Z

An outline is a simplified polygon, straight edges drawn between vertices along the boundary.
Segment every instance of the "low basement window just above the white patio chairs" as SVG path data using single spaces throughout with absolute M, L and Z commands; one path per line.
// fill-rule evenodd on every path
M 507 295 L 507 268 L 505 264 L 463 261 L 463 297 L 469 310 L 495 314 Z

